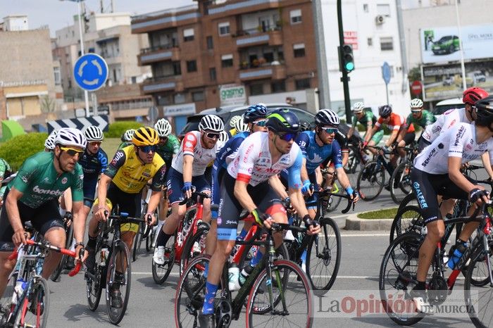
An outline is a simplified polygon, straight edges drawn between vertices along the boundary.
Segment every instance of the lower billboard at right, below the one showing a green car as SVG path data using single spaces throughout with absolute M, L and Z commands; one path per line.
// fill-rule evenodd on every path
M 493 92 L 493 61 L 466 63 L 466 86 L 481 87 Z M 422 66 L 423 96 L 425 101 L 462 96 L 461 64 Z

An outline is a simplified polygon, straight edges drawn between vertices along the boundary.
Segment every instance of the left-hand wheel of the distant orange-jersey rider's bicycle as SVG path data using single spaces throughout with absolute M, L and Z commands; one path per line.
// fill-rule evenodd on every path
M 363 201 L 372 201 L 382 192 L 385 184 L 385 168 L 383 165 L 380 165 L 380 168 L 377 166 L 377 161 L 372 160 L 359 172 L 357 188 Z

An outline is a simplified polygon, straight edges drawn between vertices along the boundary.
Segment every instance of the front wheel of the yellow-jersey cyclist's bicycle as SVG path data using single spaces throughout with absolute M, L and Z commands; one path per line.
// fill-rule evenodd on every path
M 127 246 L 113 246 L 106 272 L 106 312 L 112 324 L 118 324 L 127 310 L 132 269 Z M 118 291 L 118 292 L 117 292 Z

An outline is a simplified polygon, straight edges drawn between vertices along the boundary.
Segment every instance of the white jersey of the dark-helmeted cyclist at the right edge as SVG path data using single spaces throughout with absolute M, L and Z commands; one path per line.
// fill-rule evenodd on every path
M 451 128 L 444 129 L 430 146 L 427 146 L 414 160 L 414 168 L 442 175 L 449 172 L 448 158 L 460 157 L 461 163 L 468 163 L 481 157 L 483 153 L 493 149 L 493 138 L 482 144 L 476 142 L 476 127 L 460 122 Z M 489 152 L 489 160 L 493 161 L 493 152 Z M 493 162 L 492 162 L 493 163 Z

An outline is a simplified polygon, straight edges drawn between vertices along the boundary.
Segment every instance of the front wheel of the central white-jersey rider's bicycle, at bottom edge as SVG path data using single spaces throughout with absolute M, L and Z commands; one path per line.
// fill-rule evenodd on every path
M 264 269 L 250 291 L 246 327 L 311 327 L 310 286 L 299 265 L 290 260 L 275 260 L 272 277 Z

